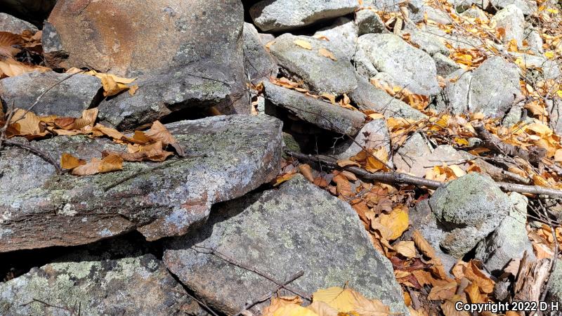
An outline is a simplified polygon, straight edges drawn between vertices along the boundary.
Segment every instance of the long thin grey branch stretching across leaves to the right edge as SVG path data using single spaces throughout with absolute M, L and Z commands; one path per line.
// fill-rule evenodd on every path
M 299 160 L 305 160 L 308 162 L 318 162 L 320 164 L 324 164 L 325 166 L 329 166 L 333 169 L 344 169 L 346 171 L 350 171 L 351 173 L 354 173 L 356 176 L 360 176 L 361 178 L 367 180 L 374 180 L 374 181 L 391 183 L 391 184 L 421 185 L 424 187 L 429 187 L 431 189 L 436 189 L 438 187 L 445 185 L 445 182 L 419 178 L 416 176 L 410 176 L 407 173 L 392 172 L 392 171 L 371 173 L 369 171 L 360 169 L 355 166 L 340 167 L 337 164 L 336 159 L 332 157 L 327 157 L 322 155 L 301 154 L 300 152 L 291 152 L 291 151 L 287 151 L 286 153 L 289 154 L 289 156 L 292 156 Z M 496 182 L 496 184 L 499 186 L 500 189 L 506 192 L 530 193 L 533 195 L 548 195 L 549 197 L 562 197 L 562 190 L 549 189 L 547 187 L 540 187 L 538 185 L 521 185 L 521 184 L 504 183 L 504 182 Z

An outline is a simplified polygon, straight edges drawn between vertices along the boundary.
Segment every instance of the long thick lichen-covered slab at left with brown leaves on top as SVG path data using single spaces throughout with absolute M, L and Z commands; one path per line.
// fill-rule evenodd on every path
M 138 230 L 146 239 L 183 235 L 207 220 L 211 204 L 240 197 L 280 168 L 281 121 L 267 116 L 211 117 L 166 127 L 188 154 L 162 163 L 125 163 L 96 176 L 58 176 L 20 149 L 0 157 L 0 252 L 70 246 Z M 58 159 L 90 160 L 123 150 L 106 139 L 58 136 L 30 145 Z

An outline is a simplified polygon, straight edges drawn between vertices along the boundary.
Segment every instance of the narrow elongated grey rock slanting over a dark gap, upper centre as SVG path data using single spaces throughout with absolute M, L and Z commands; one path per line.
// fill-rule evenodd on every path
M 322 129 L 354 136 L 365 122 L 365 114 L 318 100 L 268 81 L 263 82 L 266 100 L 277 107 L 282 107 L 303 121 Z M 266 104 L 267 107 L 267 104 Z

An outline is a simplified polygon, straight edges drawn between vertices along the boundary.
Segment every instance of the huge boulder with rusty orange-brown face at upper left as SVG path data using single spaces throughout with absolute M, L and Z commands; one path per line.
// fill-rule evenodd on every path
M 152 75 L 162 76 L 160 81 L 170 75 L 164 86 L 174 85 L 176 72 L 221 82 L 229 92 L 221 100 L 223 114 L 247 114 L 243 19 L 237 0 L 60 0 L 44 27 L 44 52 L 53 67 L 89 67 L 145 81 Z M 139 84 L 139 91 L 174 95 L 176 108 L 190 101 L 189 93 L 147 85 Z M 108 106 L 126 103 L 114 99 Z

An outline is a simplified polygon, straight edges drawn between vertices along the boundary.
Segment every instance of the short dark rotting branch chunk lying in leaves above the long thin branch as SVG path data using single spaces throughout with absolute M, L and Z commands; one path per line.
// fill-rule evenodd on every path
M 537 164 L 547 153 L 547 150 L 537 146 L 530 146 L 529 150 L 525 150 L 521 147 L 514 146 L 508 143 L 502 142 L 499 138 L 495 137 L 487 131 L 483 124 L 475 124 L 474 131 L 478 134 L 478 138 L 481 138 L 484 142 L 484 147 L 492 150 L 493 152 L 500 152 L 509 156 L 517 156 L 522 159 L 527 160 L 531 164 Z

